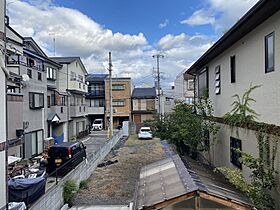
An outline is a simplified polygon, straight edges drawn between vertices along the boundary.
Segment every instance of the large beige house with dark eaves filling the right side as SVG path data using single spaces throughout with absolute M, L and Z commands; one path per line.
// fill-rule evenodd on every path
M 280 4 L 278 0 L 261 0 L 249 10 L 189 69 L 195 75 L 196 97 L 208 90 L 214 116 L 223 117 L 232 110 L 233 95 L 243 95 L 250 83 L 261 85 L 252 92 L 251 108 L 257 121 L 280 126 Z M 219 143 L 207 157 L 215 166 L 240 168 L 249 179 L 250 170 L 242 167 L 234 148 L 258 156 L 255 131 L 220 124 Z M 275 169 L 280 171 L 280 148 Z M 277 175 L 279 180 L 279 175 Z M 277 181 L 279 186 L 279 181 Z M 279 191 L 279 190 L 278 190 Z M 275 190 L 279 198 L 279 192 Z

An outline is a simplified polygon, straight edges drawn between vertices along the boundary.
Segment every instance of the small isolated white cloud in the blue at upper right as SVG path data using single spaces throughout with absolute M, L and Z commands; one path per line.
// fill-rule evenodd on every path
M 181 24 L 188 24 L 188 25 L 206 25 L 206 24 L 213 24 L 215 22 L 215 17 L 208 14 L 205 10 L 200 9 L 195 11 L 191 17 L 186 20 L 182 20 Z

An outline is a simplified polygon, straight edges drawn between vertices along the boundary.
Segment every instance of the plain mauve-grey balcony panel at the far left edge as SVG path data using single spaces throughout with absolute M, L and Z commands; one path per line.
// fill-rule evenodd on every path
M 17 139 L 17 130 L 23 129 L 23 95 L 7 93 L 8 140 Z

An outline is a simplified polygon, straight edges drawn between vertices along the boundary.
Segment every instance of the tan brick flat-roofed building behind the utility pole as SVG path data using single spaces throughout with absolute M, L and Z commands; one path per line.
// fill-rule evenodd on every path
M 106 122 L 108 127 L 110 113 L 109 78 L 105 79 Z M 123 121 L 131 120 L 131 78 L 112 78 L 113 127 Z

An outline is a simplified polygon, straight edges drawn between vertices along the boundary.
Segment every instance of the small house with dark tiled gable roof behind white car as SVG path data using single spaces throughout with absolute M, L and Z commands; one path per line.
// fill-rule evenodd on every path
M 156 89 L 134 88 L 132 91 L 132 121 L 143 123 L 153 120 L 156 114 Z

